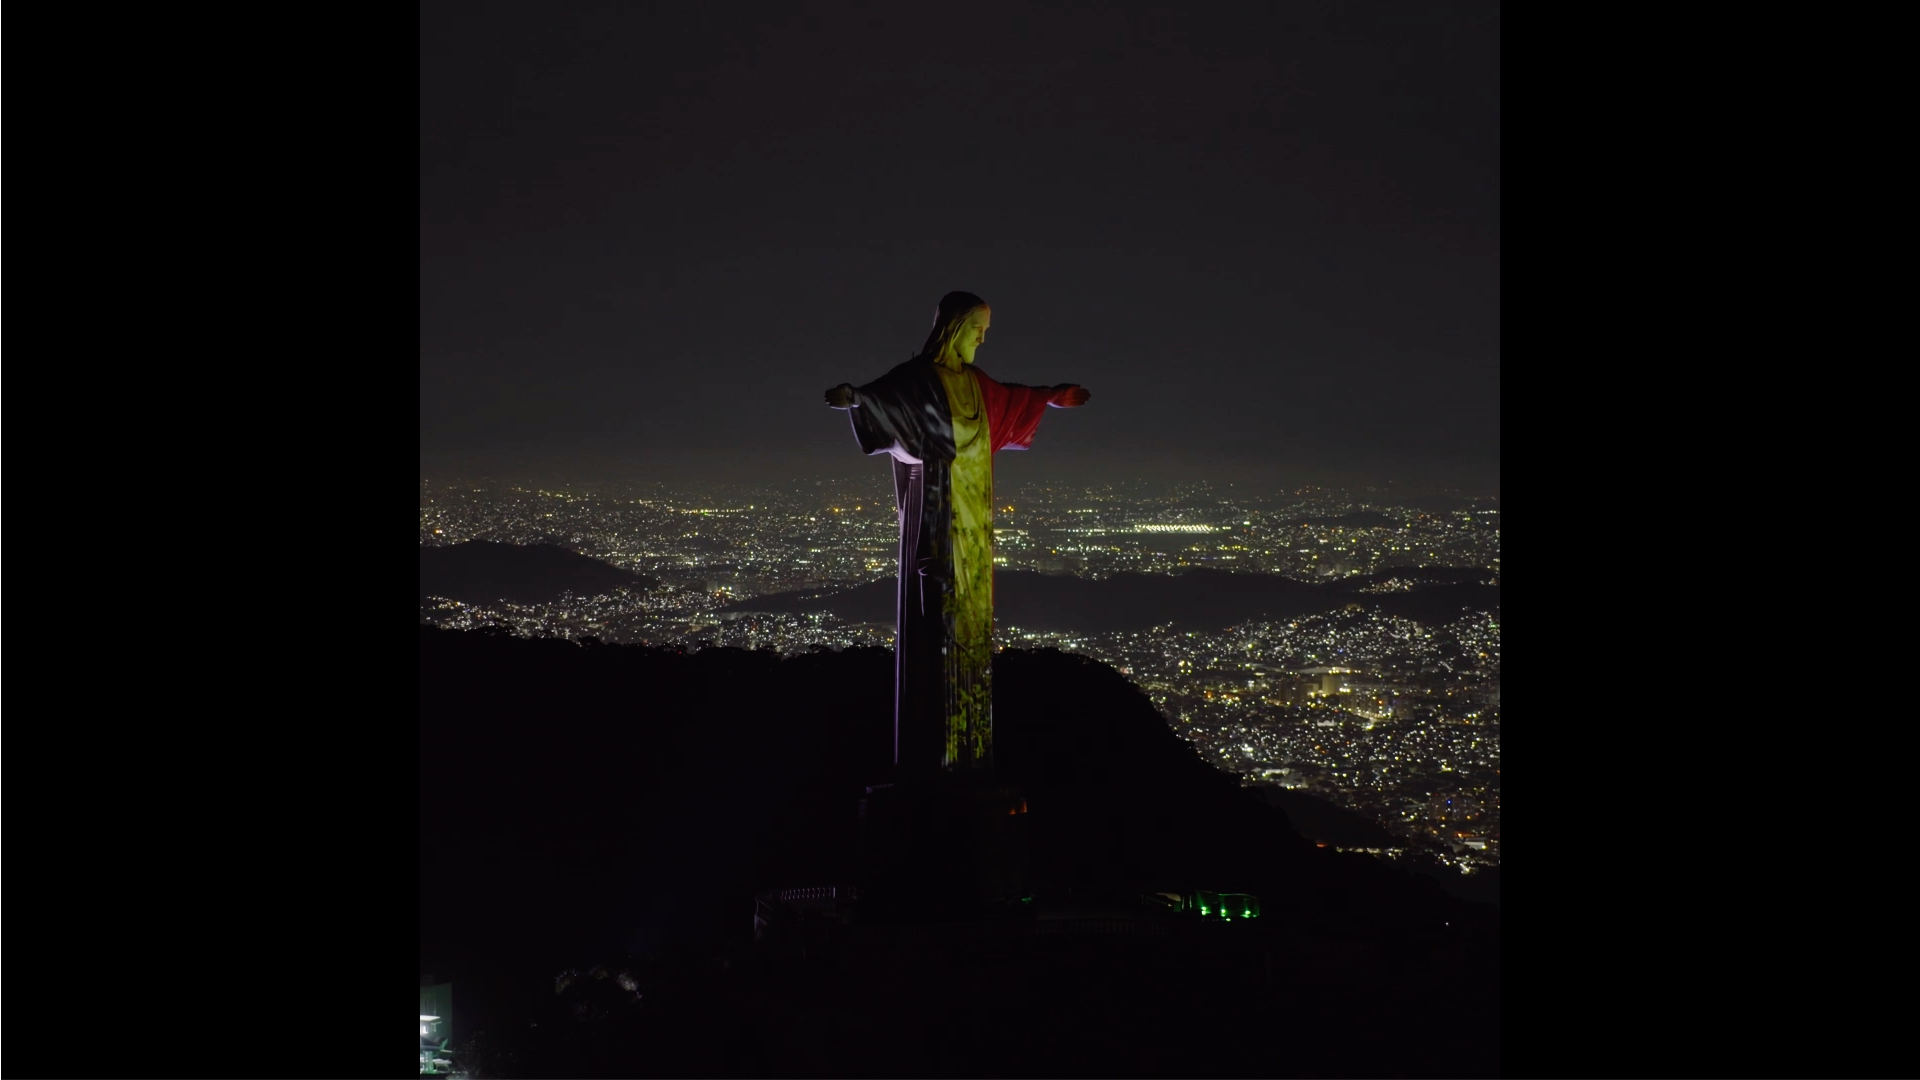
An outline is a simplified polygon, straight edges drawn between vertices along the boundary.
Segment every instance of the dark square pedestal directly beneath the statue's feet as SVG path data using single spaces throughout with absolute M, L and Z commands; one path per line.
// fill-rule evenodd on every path
M 950 778 L 868 788 L 860 847 L 872 920 L 970 920 L 1029 896 L 1027 801 L 1014 788 Z

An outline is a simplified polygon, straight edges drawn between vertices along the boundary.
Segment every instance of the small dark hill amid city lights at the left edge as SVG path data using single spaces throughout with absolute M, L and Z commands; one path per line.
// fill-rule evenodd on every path
M 620 586 L 651 584 L 653 578 L 555 544 L 472 540 L 444 548 L 420 546 L 420 596 L 445 596 L 467 603 L 495 600 L 547 603 L 566 592 L 603 596 Z

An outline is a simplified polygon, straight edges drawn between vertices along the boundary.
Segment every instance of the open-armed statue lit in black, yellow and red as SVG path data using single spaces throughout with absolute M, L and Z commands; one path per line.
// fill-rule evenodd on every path
M 841 382 L 866 454 L 893 457 L 900 511 L 893 759 L 902 774 L 993 765 L 993 455 L 1027 450 L 1048 405 L 1087 390 L 995 382 L 973 367 L 993 311 L 948 292 L 920 354 L 866 386 Z

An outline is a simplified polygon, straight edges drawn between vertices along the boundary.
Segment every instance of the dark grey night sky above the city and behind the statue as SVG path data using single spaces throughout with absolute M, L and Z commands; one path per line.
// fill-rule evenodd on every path
M 1498 490 L 1498 4 L 420 6 L 420 471 L 885 475 L 993 304 L 1002 484 Z

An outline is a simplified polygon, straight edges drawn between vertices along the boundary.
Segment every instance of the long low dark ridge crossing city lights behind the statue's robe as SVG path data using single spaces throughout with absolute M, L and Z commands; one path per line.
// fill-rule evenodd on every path
M 1413 592 L 1357 592 L 1392 577 L 1419 577 Z M 1308 584 L 1279 575 L 1236 575 L 1196 569 L 1185 575 L 1114 575 L 1091 580 L 1033 571 L 995 573 L 995 621 L 1025 630 L 1114 632 L 1144 630 L 1164 623 L 1217 628 L 1256 619 L 1300 619 L 1338 611 L 1350 603 L 1421 623 L 1448 623 L 1461 609 L 1498 611 L 1500 586 L 1478 584 L 1492 571 L 1400 569 Z M 881 578 L 847 590 L 776 592 L 743 600 L 726 611 L 806 613 L 829 611 L 854 623 L 893 623 L 895 584 Z

